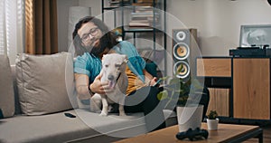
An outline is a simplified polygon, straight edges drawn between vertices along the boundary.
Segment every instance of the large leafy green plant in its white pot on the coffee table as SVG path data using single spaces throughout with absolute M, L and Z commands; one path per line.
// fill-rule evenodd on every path
M 170 79 L 165 77 L 163 80 Z M 167 100 L 166 108 L 177 112 L 179 131 L 201 129 L 203 105 L 199 105 L 203 92 L 200 81 L 190 78 L 184 80 L 174 76 L 158 93 L 158 98 Z

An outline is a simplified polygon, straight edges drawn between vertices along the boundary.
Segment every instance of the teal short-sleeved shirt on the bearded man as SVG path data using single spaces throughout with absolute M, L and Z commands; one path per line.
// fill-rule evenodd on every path
M 139 55 L 135 49 L 134 44 L 123 41 L 113 47 L 117 53 L 126 54 L 128 58 L 128 67 L 131 71 L 139 77 L 140 80 L 145 82 L 143 69 L 145 69 L 145 60 Z M 74 62 L 74 72 L 80 74 L 87 74 L 89 81 L 92 83 L 95 77 L 101 71 L 101 60 L 89 52 L 78 56 Z

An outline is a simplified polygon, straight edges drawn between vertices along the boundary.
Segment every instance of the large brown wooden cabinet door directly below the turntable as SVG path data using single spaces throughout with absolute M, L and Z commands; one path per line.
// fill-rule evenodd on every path
M 233 117 L 270 119 L 270 59 L 233 59 Z

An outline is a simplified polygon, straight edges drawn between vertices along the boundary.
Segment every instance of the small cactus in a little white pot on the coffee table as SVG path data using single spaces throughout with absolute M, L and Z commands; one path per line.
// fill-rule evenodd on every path
M 216 110 L 210 110 L 209 114 L 207 115 L 207 126 L 209 130 L 216 130 L 218 129 L 219 121 L 218 113 Z

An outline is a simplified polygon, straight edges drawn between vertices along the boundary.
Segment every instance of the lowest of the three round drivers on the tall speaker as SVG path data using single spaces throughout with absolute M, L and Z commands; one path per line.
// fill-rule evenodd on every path
M 174 64 L 174 74 L 177 78 L 185 79 L 189 76 L 190 66 L 187 62 L 179 61 Z

